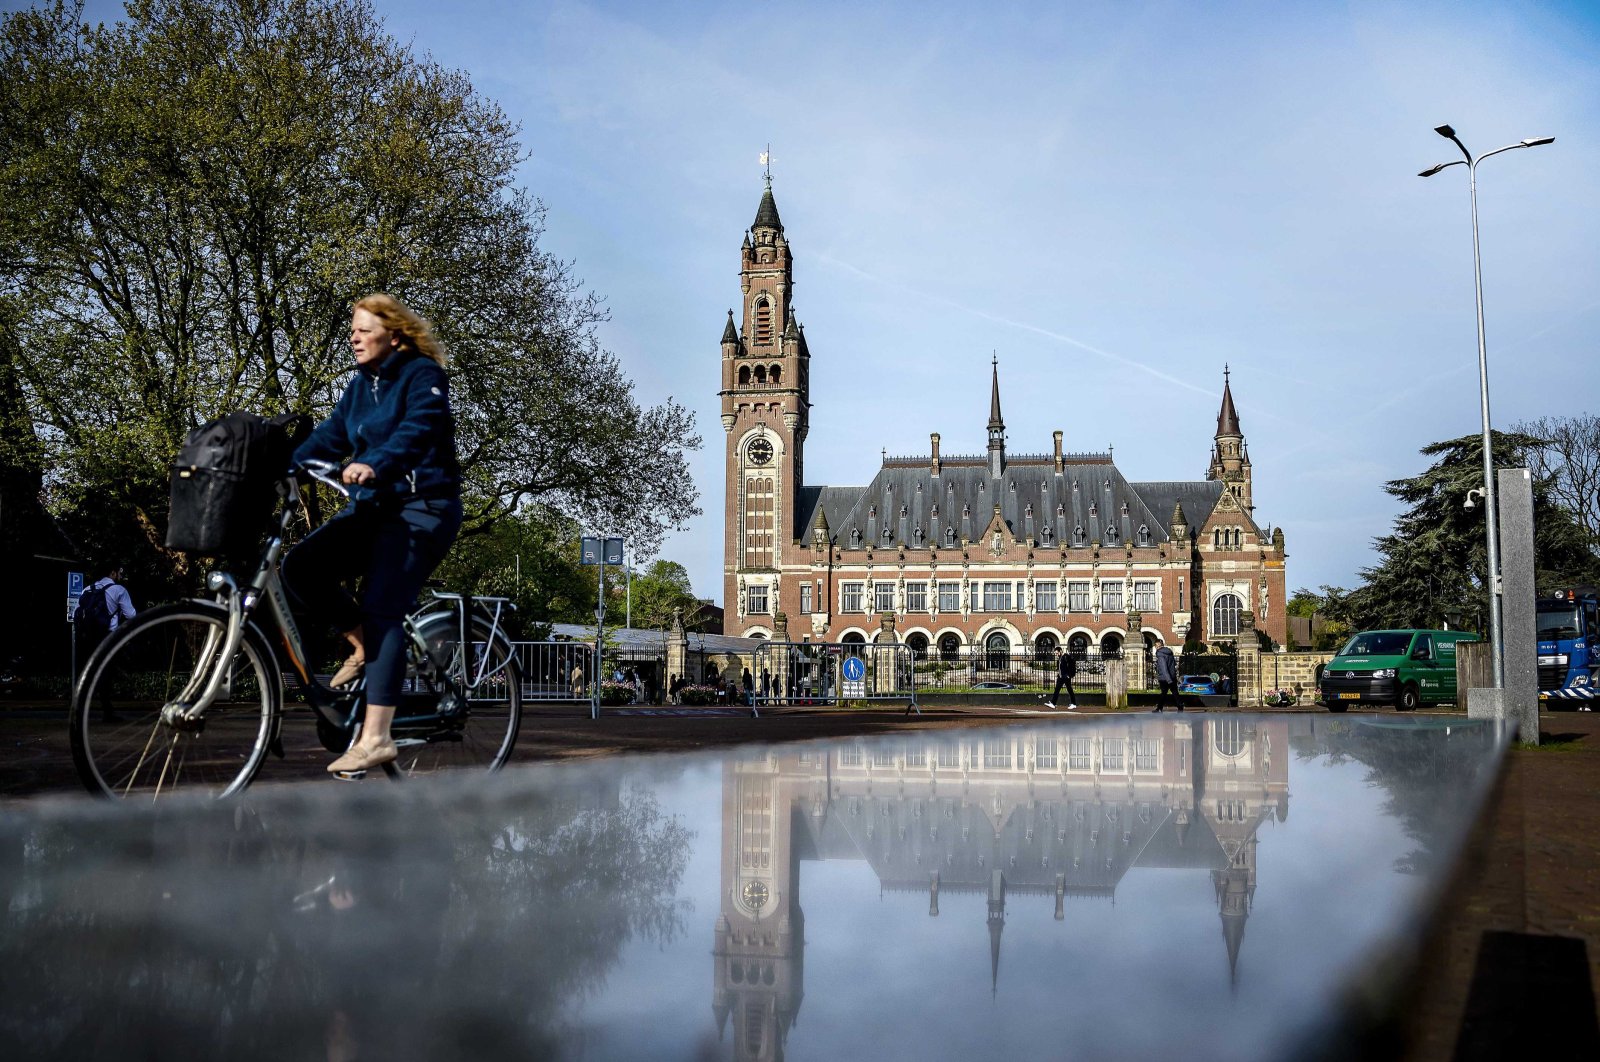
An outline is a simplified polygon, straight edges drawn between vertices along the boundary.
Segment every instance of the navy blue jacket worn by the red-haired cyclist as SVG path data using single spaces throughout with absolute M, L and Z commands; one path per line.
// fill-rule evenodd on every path
M 395 350 L 376 368 L 358 368 L 333 416 L 294 451 L 301 461 L 358 461 L 378 480 L 352 497 L 459 497 L 456 417 L 450 381 L 427 355 Z

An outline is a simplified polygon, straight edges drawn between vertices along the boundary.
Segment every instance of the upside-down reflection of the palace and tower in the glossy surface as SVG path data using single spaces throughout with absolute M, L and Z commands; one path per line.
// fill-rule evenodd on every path
M 1238 976 L 1258 827 L 1288 817 L 1288 721 L 1214 715 L 835 742 L 723 766 L 712 1011 L 736 1059 L 781 1059 L 805 996 L 800 862 L 864 859 L 885 892 L 1006 907 L 1109 902 L 1134 867 L 1210 870 Z

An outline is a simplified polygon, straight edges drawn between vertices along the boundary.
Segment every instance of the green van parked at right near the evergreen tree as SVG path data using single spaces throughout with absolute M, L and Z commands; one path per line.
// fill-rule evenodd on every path
M 1467 630 L 1363 630 L 1328 661 L 1317 691 L 1330 712 L 1352 704 L 1392 704 L 1411 712 L 1422 704 L 1454 702 L 1456 643 L 1477 640 Z

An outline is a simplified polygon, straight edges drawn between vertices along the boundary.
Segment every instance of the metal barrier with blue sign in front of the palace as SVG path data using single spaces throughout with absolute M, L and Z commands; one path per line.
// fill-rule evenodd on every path
M 752 709 L 906 701 L 906 712 L 920 715 L 915 662 L 910 646 L 898 643 L 768 641 L 752 654 Z

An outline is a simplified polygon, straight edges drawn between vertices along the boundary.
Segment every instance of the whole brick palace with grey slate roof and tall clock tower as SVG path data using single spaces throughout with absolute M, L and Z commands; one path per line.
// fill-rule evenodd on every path
M 1251 513 L 1227 376 L 1203 480 L 1130 483 L 1110 454 L 1008 454 L 992 371 L 989 449 L 883 457 L 867 486 L 805 478 L 811 352 L 771 181 L 739 251 L 742 328 L 722 334 L 725 630 L 894 640 L 918 654 L 1283 641 L 1283 531 Z M 974 409 L 974 414 L 978 411 Z

